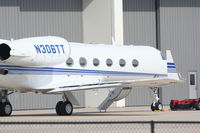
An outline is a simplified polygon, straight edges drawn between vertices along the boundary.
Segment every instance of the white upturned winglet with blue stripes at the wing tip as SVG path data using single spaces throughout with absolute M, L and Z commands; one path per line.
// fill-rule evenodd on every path
M 168 78 L 180 80 L 179 74 L 176 72 L 176 66 L 171 54 L 170 50 L 166 50 L 166 56 L 167 56 L 167 72 L 168 72 Z

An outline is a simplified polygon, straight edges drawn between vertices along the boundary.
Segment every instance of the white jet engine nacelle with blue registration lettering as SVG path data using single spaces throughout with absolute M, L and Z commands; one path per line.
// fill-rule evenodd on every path
M 69 43 L 60 37 L 33 37 L 0 44 L 0 60 L 7 64 L 50 66 L 66 61 Z

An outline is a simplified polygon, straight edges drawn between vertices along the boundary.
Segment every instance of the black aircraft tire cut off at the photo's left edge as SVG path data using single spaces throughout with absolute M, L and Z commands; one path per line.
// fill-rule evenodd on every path
M 12 105 L 10 102 L 1 103 L 0 116 L 10 116 L 12 113 Z

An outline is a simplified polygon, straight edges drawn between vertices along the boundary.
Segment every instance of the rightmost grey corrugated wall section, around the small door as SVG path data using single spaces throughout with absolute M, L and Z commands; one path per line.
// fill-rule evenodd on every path
M 161 0 L 161 49 L 171 49 L 178 71 L 187 79 L 185 83 L 164 87 L 163 102 L 189 98 L 188 72 L 197 72 L 198 96 L 200 96 L 200 1 Z

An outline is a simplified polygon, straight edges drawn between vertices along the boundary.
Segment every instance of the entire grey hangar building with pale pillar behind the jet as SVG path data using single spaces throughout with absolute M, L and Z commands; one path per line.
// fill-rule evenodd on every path
M 160 89 L 164 104 L 200 96 L 199 0 L 0 0 L 0 38 L 55 35 L 68 41 L 149 45 L 170 49 L 185 83 Z M 152 60 L 153 62 L 153 60 Z M 108 90 L 76 92 L 80 107 L 95 107 Z M 14 93 L 13 108 L 54 108 L 61 95 Z M 91 100 L 92 99 L 92 100 Z M 150 105 L 148 88 L 134 88 L 113 106 Z

